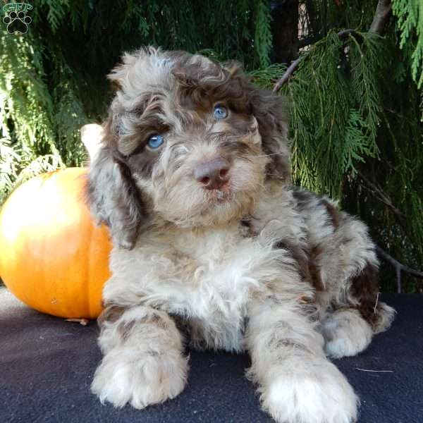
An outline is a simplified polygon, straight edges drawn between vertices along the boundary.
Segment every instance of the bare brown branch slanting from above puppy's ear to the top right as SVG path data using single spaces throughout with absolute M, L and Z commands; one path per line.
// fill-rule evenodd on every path
M 389 12 L 391 11 L 391 0 L 379 0 L 376 11 L 374 13 L 374 18 L 372 25 L 370 25 L 369 32 L 375 32 L 376 34 L 382 35 L 385 29 L 386 22 L 388 21 Z M 338 32 L 338 37 L 343 38 L 348 35 L 357 36 L 355 30 L 341 30 Z M 300 63 L 308 56 L 308 53 L 302 54 L 298 59 L 295 59 L 293 63 L 290 64 L 288 69 L 283 73 L 282 77 L 275 83 L 273 92 L 278 92 L 281 90 L 281 87 L 288 82 L 293 73 L 297 70 Z

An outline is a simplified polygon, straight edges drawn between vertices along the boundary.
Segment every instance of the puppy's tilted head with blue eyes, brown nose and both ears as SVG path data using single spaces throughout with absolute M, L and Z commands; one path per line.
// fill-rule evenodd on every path
M 91 164 L 92 211 L 132 247 L 147 216 L 210 226 L 247 216 L 266 179 L 288 180 L 281 98 L 236 63 L 183 52 L 125 54 Z

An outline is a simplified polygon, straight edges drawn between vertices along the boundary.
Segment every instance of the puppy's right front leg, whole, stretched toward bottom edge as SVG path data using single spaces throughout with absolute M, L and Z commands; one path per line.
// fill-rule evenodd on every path
M 350 423 L 358 398 L 328 360 L 298 303 L 269 297 L 250 307 L 246 338 L 262 405 L 280 423 Z

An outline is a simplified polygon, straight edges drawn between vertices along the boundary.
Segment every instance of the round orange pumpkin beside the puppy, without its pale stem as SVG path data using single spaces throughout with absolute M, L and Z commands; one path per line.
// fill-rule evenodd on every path
M 40 312 L 94 319 L 102 311 L 111 243 L 84 200 L 86 168 L 45 173 L 20 185 L 0 213 L 0 276 Z

